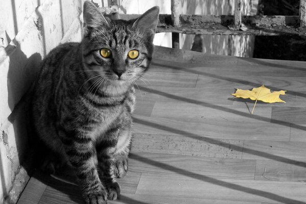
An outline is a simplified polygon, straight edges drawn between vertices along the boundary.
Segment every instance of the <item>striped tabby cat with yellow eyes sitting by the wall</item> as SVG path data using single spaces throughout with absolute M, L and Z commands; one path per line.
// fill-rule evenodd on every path
M 117 199 L 127 171 L 135 105 L 133 83 L 148 69 L 159 7 L 133 20 L 111 20 L 84 3 L 81 43 L 54 48 L 42 62 L 31 114 L 55 173 L 69 164 L 86 203 Z

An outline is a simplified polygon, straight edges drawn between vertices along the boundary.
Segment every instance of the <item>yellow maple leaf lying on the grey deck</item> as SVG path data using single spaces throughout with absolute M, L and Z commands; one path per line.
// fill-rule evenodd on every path
M 253 88 L 251 91 L 250 90 L 242 90 L 242 89 L 237 89 L 235 93 L 232 93 L 232 95 L 236 96 L 236 98 L 250 98 L 251 100 L 256 100 L 252 113 L 254 111 L 254 108 L 257 104 L 257 100 L 264 101 L 266 103 L 275 103 L 275 102 L 284 102 L 281 98 L 279 98 L 279 95 L 285 95 L 286 91 L 273 91 L 271 92 L 270 89 L 262 85 L 261 87 L 258 88 Z

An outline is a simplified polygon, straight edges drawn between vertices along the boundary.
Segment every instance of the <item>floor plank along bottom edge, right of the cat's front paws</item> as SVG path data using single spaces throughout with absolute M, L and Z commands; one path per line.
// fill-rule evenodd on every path
M 176 196 L 156 196 L 156 195 L 135 195 L 122 193 L 119 200 L 109 201 L 111 204 L 262 204 L 261 202 L 245 202 L 233 200 L 211 200 L 201 198 L 176 197 Z

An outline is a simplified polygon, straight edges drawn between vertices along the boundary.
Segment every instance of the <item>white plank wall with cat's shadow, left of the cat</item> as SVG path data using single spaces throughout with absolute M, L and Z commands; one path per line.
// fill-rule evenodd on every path
M 0 6 L 0 203 L 14 203 L 27 182 L 24 106 L 15 107 L 39 63 L 63 41 L 81 40 L 81 0 L 5 0 Z M 12 183 L 17 175 L 14 188 Z M 19 176 L 21 175 L 21 176 Z

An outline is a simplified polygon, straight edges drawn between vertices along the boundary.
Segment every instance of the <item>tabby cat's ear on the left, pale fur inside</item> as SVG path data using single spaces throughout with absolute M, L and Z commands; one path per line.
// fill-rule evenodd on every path
M 99 11 L 99 9 L 90 1 L 84 2 L 83 7 L 83 19 L 84 19 L 84 33 L 87 33 L 90 29 L 101 27 L 108 28 L 109 23 Z

